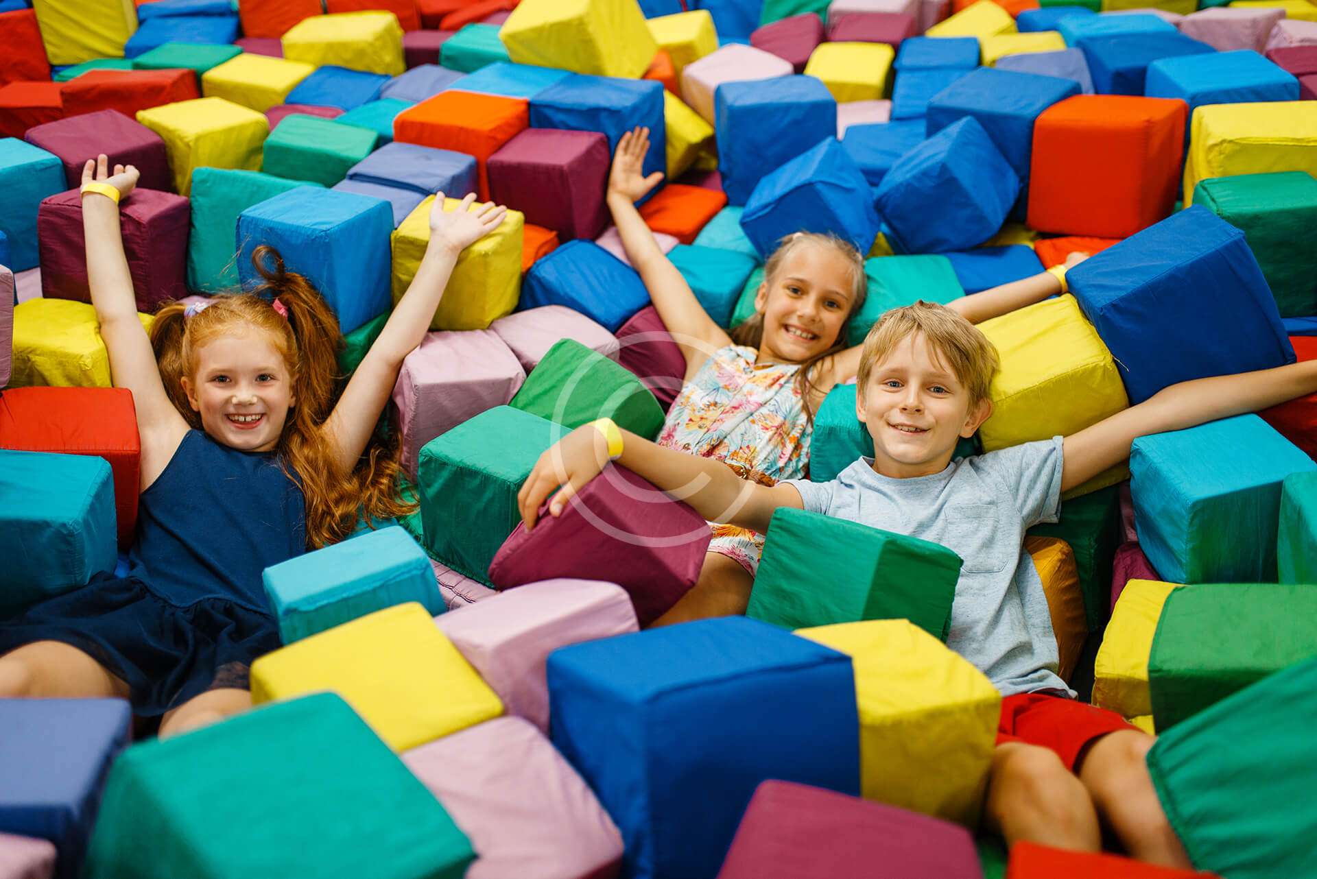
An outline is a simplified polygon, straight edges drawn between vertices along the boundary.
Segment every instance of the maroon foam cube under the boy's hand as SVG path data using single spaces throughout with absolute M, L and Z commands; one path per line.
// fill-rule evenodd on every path
M 547 511 L 548 503 L 535 530 L 520 524 L 499 547 L 489 570 L 494 586 L 616 583 L 645 626 L 690 591 L 709 551 L 709 522 L 626 467 L 590 480 L 557 518 Z

